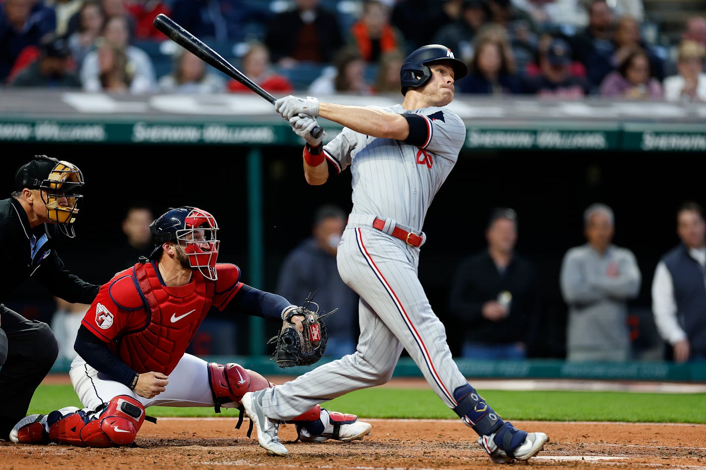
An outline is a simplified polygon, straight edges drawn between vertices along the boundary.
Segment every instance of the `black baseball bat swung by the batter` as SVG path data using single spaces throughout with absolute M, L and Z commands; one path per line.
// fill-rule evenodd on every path
M 238 80 L 240 83 L 250 88 L 253 92 L 256 92 L 270 103 L 275 104 L 275 101 L 277 101 L 273 95 L 270 95 L 270 93 L 263 90 L 260 85 L 253 82 L 253 80 L 248 78 L 248 76 L 230 64 L 229 61 L 223 59 L 220 54 L 198 39 L 198 37 L 192 35 L 191 32 L 185 30 L 184 28 L 181 28 L 181 26 L 172 20 L 172 18 L 169 18 L 169 16 L 164 13 L 160 13 L 155 17 L 153 24 L 155 25 L 155 28 L 163 32 L 164 35 L 167 35 L 169 39 L 176 42 L 181 47 L 184 47 L 184 49 L 197 56 L 206 64 L 209 64 L 222 71 L 227 76 Z M 316 126 L 311 130 L 311 136 L 313 138 L 319 138 L 322 132 L 323 129 Z

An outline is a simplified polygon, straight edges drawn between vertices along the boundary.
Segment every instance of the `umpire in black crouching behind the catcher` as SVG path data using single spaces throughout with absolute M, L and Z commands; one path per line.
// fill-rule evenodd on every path
M 49 325 L 28 320 L 2 302 L 35 277 L 54 296 L 92 303 L 99 286 L 65 269 L 54 250 L 56 236 L 73 238 L 82 198 L 83 174 L 76 165 L 37 155 L 18 169 L 10 199 L 0 200 L 0 246 L 6 272 L 0 284 L 0 439 L 23 418 L 32 394 L 56 361 L 58 348 Z

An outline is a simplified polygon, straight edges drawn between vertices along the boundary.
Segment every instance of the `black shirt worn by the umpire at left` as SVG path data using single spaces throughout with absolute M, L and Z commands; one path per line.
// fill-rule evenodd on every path
M 0 303 L 30 276 L 38 279 L 54 296 L 71 303 L 92 303 L 100 286 L 89 284 L 64 267 L 54 249 L 61 234 L 56 224 L 30 229 L 22 205 L 14 199 L 0 200 L 0 246 L 6 272 L 0 282 Z

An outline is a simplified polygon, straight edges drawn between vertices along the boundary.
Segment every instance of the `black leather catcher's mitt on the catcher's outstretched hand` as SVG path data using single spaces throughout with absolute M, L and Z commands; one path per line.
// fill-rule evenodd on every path
M 311 366 L 323 356 L 328 341 L 328 332 L 326 332 L 326 325 L 321 323 L 321 320 L 338 309 L 319 315 L 318 304 L 311 301 L 312 297 L 306 299 L 304 306 L 289 311 L 282 322 L 280 334 L 271 337 L 267 342 L 267 344 L 275 344 L 274 359 L 277 366 Z M 316 311 L 309 310 L 311 305 L 316 306 Z M 304 316 L 304 321 L 301 322 L 304 331 L 300 332 L 297 325 L 292 322 L 294 315 Z

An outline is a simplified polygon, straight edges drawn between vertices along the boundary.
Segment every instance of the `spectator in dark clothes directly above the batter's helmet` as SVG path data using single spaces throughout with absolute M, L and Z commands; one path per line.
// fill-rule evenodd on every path
M 461 16 L 442 26 L 433 37 L 434 44 L 444 44 L 456 59 L 469 63 L 473 59 L 473 38 L 489 17 L 486 0 L 464 0 Z

